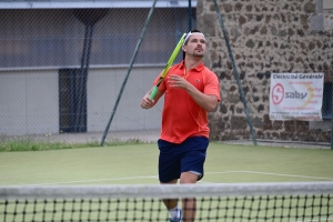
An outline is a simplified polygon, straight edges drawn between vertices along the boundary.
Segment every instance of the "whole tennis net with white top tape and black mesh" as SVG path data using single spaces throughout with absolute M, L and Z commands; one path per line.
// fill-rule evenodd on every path
M 332 195 L 333 182 L 0 186 L 0 221 L 169 221 L 161 200 L 193 198 L 186 222 L 333 221 Z

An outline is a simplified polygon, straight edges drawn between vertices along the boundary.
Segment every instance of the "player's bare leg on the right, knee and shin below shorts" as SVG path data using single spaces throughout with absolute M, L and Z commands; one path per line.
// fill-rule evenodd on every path
M 191 184 L 196 183 L 198 174 L 192 172 L 183 172 L 180 178 L 181 184 Z M 183 222 L 194 222 L 195 220 L 195 211 L 196 211 L 196 201 L 194 198 L 183 199 Z

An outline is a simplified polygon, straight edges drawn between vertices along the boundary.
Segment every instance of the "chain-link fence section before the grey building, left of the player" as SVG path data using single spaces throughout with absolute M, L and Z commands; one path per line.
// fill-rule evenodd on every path
M 155 139 L 162 102 L 140 102 L 195 27 L 195 2 L 1 1 L 0 133 L 101 137 L 120 100 L 109 131 Z

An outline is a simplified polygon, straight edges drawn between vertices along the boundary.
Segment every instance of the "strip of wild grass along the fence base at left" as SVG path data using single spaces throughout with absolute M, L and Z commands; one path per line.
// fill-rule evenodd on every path
M 44 140 L 36 140 L 33 137 L 8 137 L 6 134 L 0 135 L 0 152 L 16 152 L 16 151 L 47 151 L 47 150 L 67 150 L 78 148 L 95 148 L 100 147 L 100 141 L 90 142 L 51 142 L 49 140 L 50 134 L 46 134 Z M 119 140 L 113 139 L 105 141 L 104 147 L 124 145 L 124 144 L 140 144 L 144 143 L 139 139 Z

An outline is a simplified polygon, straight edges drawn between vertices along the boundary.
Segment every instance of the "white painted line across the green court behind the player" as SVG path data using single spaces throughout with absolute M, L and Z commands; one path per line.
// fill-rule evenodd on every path
M 306 178 L 306 179 L 333 181 L 333 178 L 316 178 L 316 176 L 307 176 L 307 175 L 292 175 L 292 174 L 268 173 L 268 172 L 256 172 L 256 171 L 206 172 L 204 174 L 209 175 L 209 174 L 224 174 L 224 173 L 254 173 L 254 174 L 279 175 L 279 176 L 289 176 L 289 178 Z M 100 180 L 62 181 L 62 182 L 39 183 L 39 184 L 23 184 L 23 185 L 54 185 L 54 184 L 68 184 L 68 183 L 121 181 L 121 180 L 135 180 L 135 179 L 159 179 L 159 176 L 158 175 L 142 175 L 142 176 L 130 176 L 130 178 L 111 178 L 111 179 L 100 179 Z M 201 183 L 215 183 L 215 182 L 205 182 L 205 181 L 200 181 L 200 182 Z M 12 185 L 12 186 L 17 186 L 17 185 Z

